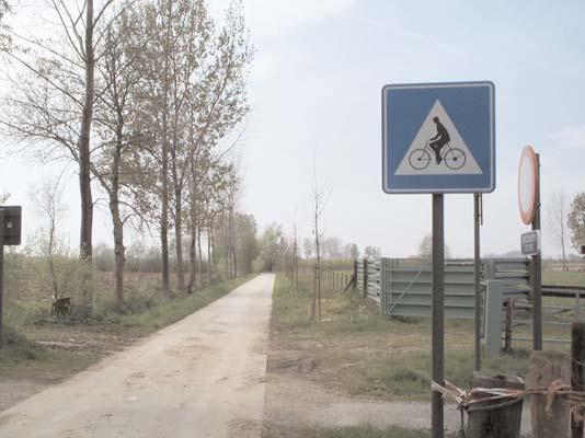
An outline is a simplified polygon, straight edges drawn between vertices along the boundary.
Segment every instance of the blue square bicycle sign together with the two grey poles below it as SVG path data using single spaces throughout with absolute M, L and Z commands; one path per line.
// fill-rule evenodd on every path
M 433 194 L 432 377 L 440 385 L 445 382 L 444 197 L 446 193 L 472 193 L 478 201 L 478 194 L 495 189 L 494 101 L 492 82 L 382 89 L 382 189 L 388 194 Z M 475 220 L 479 227 L 478 210 Z M 475 234 L 479 254 L 479 228 Z M 479 273 L 477 278 L 479 285 Z M 475 348 L 479 351 L 479 344 Z M 443 438 L 443 395 L 437 391 L 432 391 L 432 437 Z

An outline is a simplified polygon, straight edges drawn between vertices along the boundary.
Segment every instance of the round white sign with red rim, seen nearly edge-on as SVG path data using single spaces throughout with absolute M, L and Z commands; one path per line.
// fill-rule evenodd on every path
M 526 224 L 532 223 L 537 204 L 538 158 L 531 146 L 524 148 L 518 166 L 518 207 Z

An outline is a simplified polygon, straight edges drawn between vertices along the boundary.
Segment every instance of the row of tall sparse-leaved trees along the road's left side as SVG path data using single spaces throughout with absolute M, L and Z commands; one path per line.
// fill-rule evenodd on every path
M 92 257 L 93 209 L 103 201 L 119 303 L 129 227 L 158 234 L 167 293 L 172 246 L 182 291 L 193 290 L 197 273 L 200 280 L 204 260 L 209 275 L 217 257 L 230 276 L 249 269 L 237 245 L 255 234 L 255 221 L 237 211 L 233 145 L 219 147 L 250 110 L 253 48 L 241 3 L 220 24 L 205 0 L 46 0 L 42 8 L 58 23 L 50 37 L 8 31 L 11 88 L 0 124 L 41 160 L 76 164 L 80 256 Z

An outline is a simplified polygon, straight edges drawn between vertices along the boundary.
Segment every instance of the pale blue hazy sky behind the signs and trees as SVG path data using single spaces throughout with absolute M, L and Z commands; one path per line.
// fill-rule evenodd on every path
M 227 0 L 209 1 L 216 16 Z M 495 84 L 496 189 L 483 197 L 482 253 L 519 247 L 528 231 L 517 207 L 520 151 L 541 155 L 547 201 L 585 191 L 585 3 L 582 1 L 243 0 L 255 46 L 252 111 L 237 153 L 244 175 L 240 208 L 260 228 L 282 223 L 310 235 L 311 187 L 324 188 L 323 232 L 382 255 L 416 253 L 431 231 L 431 195 L 381 191 L 380 91 L 385 84 L 489 80 Z M 5 140 L 9 141 L 9 140 Z M 30 193 L 61 164 L 0 155 L 0 192 L 41 221 Z M 79 234 L 74 173 L 64 194 L 64 234 Z M 447 195 L 446 243 L 473 252 L 472 195 Z M 105 208 L 95 242 L 108 242 Z M 559 249 L 544 239 L 544 255 Z

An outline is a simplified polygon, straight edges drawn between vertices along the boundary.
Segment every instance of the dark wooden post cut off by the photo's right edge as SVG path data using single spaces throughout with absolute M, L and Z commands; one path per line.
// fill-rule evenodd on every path
M 585 391 L 585 323 L 571 324 L 571 389 Z M 577 415 L 575 415 L 577 414 Z M 571 413 L 571 438 L 583 438 L 585 408 Z M 581 418 L 577 418 L 577 417 Z

